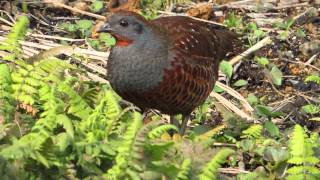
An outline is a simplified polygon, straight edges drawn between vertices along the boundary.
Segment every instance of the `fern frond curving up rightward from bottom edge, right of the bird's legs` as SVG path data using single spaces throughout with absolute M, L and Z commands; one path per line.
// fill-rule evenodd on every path
M 220 168 L 221 165 L 226 162 L 227 157 L 230 156 L 232 153 L 234 153 L 232 149 L 229 149 L 229 148 L 221 149 L 213 157 L 213 159 L 204 166 L 204 168 L 202 169 L 202 172 L 199 175 L 199 179 L 200 180 L 217 179 L 218 168 Z

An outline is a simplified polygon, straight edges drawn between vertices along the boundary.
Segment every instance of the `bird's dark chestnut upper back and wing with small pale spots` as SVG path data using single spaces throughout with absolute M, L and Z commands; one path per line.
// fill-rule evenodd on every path
M 240 46 L 237 35 L 225 27 L 186 16 L 161 17 L 153 20 L 152 24 L 168 34 L 172 47 L 178 46 L 192 55 L 221 61 L 227 53 Z

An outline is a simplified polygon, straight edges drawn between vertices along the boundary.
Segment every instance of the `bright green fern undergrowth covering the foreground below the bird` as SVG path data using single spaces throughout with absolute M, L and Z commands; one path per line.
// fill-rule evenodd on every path
M 238 179 L 320 178 L 318 134 L 300 125 L 279 132 L 273 112 L 254 125 L 224 112 L 217 128 L 199 117 L 188 135 L 171 137 L 175 126 L 159 117 L 143 124 L 108 85 L 83 81 L 83 69 L 23 58 L 27 27 L 20 17 L 0 46 L 8 52 L 0 64 L 0 179 L 206 180 L 230 176 L 227 168 L 239 169 Z

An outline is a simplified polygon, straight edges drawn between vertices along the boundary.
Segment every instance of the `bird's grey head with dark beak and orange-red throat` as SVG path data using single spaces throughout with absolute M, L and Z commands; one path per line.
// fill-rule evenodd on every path
M 145 18 L 137 13 L 118 11 L 107 18 L 98 32 L 107 32 L 114 36 L 117 41 L 116 46 L 128 46 L 144 38 L 148 33 L 147 24 Z

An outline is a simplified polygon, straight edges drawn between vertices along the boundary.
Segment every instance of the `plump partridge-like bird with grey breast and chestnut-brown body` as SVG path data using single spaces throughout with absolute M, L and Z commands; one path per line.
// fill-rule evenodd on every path
M 143 112 L 170 115 L 181 135 L 192 111 L 213 90 L 219 63 L 241 45 L 225 27 L 187 16 L 146 20 L 124 10 L 109 15 L 98 32 L 116 39 L 107 62 L 113 90 Z

